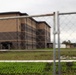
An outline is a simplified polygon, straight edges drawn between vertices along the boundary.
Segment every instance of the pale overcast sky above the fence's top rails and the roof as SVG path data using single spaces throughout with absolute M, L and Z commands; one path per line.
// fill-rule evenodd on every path
M 0 12 L 20 11 L 45 14 L 53 11 L 75 12 L 76 0 L 0 0 Z

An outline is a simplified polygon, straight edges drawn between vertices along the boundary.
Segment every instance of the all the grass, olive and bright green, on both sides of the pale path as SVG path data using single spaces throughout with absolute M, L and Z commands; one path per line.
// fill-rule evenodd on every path
M 43 51 L 1 51 L 0 60 L 52 60 L 53 50 Z M 45 49 L 46 50 L 46 49 Z M 75 49 L 61 49 L 61 56 L 76 57 Z M 56 50 L 56 59 L 58 51 Z M 61 63 L 62 75 L 76 75 L 76 63 Z M 53 63 L 0 62 L 0 75 L 52 75 Z M 58 75 L 58 64 L 56 64 Z

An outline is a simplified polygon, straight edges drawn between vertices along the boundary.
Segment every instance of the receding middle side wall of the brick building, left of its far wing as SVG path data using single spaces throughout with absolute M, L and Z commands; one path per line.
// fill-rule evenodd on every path
M 24 20 L 24 22 L 23 22 Z M 26 49 L 36 48 L 36 22 L 31 18 L 25 18 L 21 20 L 21 34 L 26 41 Z M 25 35 L 25 36 L 24 36 Z

